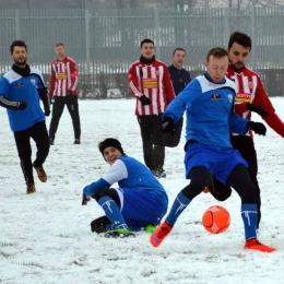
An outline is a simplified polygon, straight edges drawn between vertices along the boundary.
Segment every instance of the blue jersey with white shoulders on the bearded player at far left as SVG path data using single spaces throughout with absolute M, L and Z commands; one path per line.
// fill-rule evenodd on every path
M 27 104 L 24 110 L 7 109 L 12 131 L 25 130 L 39 121 L 45 121 L 37 88 L 45 88 L 45 84 L 40 71 L 35 68 L 31 68 L 28 76 L 22 76 L 10 70 L 1 78 L 0 97 L 4 96 L 13 102 L 25 100 Z

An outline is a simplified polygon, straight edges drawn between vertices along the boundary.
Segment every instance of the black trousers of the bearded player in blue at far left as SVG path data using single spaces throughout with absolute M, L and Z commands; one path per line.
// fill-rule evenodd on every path
M 49 152 L 48 133 L 45 121 L 35 123 L 23 131 L 14 132 L 15 144 L 20 157 L 21 167 L 26 184 L 34 182 L 31 138 L 35 141 L 37 152 L 34 161 L 36 166 L 42 166 Z

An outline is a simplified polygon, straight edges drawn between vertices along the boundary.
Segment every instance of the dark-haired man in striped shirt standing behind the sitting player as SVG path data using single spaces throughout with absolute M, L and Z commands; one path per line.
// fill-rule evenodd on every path
M 144 39 L 140 45 L 140 60 L 129 69 L 129 86 L 137 98 L 135 115 L 141 130 L 143 154 L 146 166 L 161 178 L 164 170 L 165 142 L 161 129 L 162 116 L 175 98 L 167 66 L 154 56 L 153 40 Z

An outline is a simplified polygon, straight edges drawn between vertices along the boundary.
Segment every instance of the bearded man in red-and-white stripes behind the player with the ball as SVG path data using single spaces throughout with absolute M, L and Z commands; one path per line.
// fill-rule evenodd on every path
M 260 76 L 246 67 L 250 50 L 251 38 L 248 35 L 240 32 L 234 32 L 230 35 L 227 49 L 229 64 L 226 75 L 236 83 L 237 95 L 235 110 L 240 117 L 248 120 L 251 118 L 251 111 L 257 113 L 276 133 L 284 138 L 284 123 L 275 114 L 275 109 L 264 91 Z M 261 197 L 257 178 L 257 152 L 252 138 L 251 130 L 245 134 L 230 132 L 230 143 L 248 162 L 249 176 L 256 187 L 258 205 L 257 228 L 259 228 Z M 220 201 L 226 200 L 232 192 L 230 187 L 225 186 L 214 176 L 209 179 L 208 189 Z

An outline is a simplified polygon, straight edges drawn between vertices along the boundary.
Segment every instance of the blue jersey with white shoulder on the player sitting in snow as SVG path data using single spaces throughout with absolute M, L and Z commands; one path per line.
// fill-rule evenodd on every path
M 92 197 L 97 190 L 109 188 L 115 182 L 118 182 L 121 189 L 147 191 L 157 197 L 163 205 L 167 208 L 168 198 L 164 187 L 149 168 L 127 155 L 117 159 L 100 179 L 85 187 L 84 193 Z

